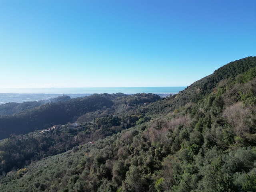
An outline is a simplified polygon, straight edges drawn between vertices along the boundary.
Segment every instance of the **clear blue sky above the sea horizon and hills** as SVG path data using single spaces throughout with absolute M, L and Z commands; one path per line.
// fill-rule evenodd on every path
M 0 0 L 0 88 L 189 86 L 256 55 L 256 0 Z

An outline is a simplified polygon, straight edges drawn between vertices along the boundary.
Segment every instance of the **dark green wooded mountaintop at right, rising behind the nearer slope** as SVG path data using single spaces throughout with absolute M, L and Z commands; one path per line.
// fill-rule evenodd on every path
M 234 80 L 236 76 L 238 76 L 239 78 L 239 76 L 242 76 L 242 74 L 244 74 L 246 71 L 247 75 L 244 75 L 244 79 L 252 80 L 252 78 L 255 77 L 255 67 L 256 56 L 251 56 L 236 60 L 234 62 L 230 62 L 215 70 L 213 74 L 210 74 L 209 76 L 206 76 L 194 82 L 193 84 L 188 86 L 188 88 L 182 90 L 179 94 L 150 105 L 147 110 L 148 114 L 166 114 L 190 102 L 195 103 L 201 101 L 202 99 L 207 97 L 217 86 L 217 84 L 220 84 L 220 82 L 222 82 L 223 86 L 225 86 L 225 83 L 227 83 L 228 86 L 234 86 L 235 82 L 233 82 L 232 84 L 230 83 Z

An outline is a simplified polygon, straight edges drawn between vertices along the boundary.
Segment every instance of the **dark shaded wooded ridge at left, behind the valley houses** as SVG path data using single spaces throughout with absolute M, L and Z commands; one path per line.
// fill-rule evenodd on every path
M 55 101 L 58 101 L 58 99 Z M 30 104 L 30 102 L 28 103 Z M 12 133 L 26 134 L 34 130 L 49 128 L 56 124 L 73 122 L 86 112 L 96 111 L 104 106 L 108 108 L 112 105 L 112 101 L 94 94 L 84 98 L 68 99 L 64 102 L 50 102 L 22 110 L 12 116 L 2 116 L 0 118 L 0 139 L 8 137 Z

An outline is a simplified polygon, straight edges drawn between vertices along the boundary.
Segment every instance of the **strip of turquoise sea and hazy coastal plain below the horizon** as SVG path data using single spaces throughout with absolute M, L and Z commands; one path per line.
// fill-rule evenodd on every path
M 5 88 L 0 89 L 0 104 L 8 102 L 22 103 L 27 101 L 47 100 L 68 95 L 70 98 L 90 96 L 95 93 L 154 93 L 161 97 L 176 94 L 186 87 L 104 87 L 104 88 Z

